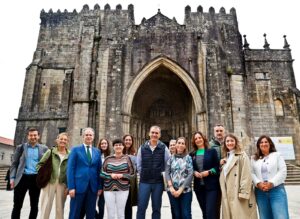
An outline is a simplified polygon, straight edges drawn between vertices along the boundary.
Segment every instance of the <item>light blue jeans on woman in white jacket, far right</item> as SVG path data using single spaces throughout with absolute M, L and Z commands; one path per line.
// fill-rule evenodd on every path
M 264 192 L 255 188 L 260 219 L 289 219 L 288 202 L 284 185 Z

